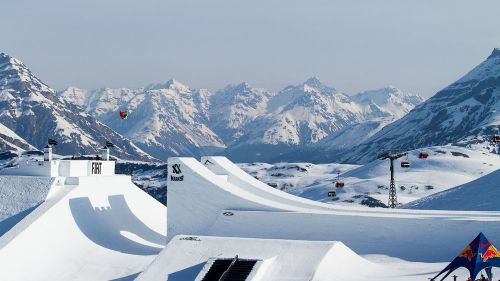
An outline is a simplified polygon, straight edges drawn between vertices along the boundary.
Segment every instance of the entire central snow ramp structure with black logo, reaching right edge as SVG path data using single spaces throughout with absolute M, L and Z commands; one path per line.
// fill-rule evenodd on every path
M 208 235 L 342 241 L 358 254 L 438 262 L 479 232 L 500 237 L 500 212 L 324 207 L 282 196 L 219 157 L 202 163 L 170 158 L 169 175 L 169 240 Z

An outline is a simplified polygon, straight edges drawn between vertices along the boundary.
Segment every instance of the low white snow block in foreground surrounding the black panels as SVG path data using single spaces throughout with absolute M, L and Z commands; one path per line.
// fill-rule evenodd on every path
M 256 262 L 246 280 L 344 280 L 353 270 L 363 268 L 361 277 L 378 273 L 380 268 L 341 242 L 181 235 L 172 239 L 137 281 L 205 280 L 217 260 L 231 261 L 236 255 Z

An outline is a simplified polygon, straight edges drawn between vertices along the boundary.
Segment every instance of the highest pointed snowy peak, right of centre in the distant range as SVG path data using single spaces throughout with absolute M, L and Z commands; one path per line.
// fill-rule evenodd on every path
M 228 148 L 232 159 L 272 161 L 364 117 L 358 104 L 317 78 L 286 87 L 268 101 L 266 112 L 248 124 L 246 133 Z

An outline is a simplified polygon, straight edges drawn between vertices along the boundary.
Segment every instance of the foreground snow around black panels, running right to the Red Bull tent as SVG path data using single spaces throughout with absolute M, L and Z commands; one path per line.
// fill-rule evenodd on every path
M 380 255 L 358 256 L 342 242 L 175 237 L 136 281 L 201 280 L 214 258 L 262 260 L 252 281 L 422 281 L 447 263 L 407 262 Z M 456 272 L 465 276 L 465 270 Z M 494 274 L 498 272 L 494 271 Z

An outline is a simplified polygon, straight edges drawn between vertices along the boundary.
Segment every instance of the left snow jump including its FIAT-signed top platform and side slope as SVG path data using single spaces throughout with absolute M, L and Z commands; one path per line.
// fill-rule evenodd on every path
M 18 219 L 0 237 L 0 280 L 130 280 L 165 246 L 165 206 L 115 175 L 113 161 L 21 161 L 2 173 L 2 192 L 21 178 L 39 192 L 11 205 Z

